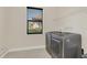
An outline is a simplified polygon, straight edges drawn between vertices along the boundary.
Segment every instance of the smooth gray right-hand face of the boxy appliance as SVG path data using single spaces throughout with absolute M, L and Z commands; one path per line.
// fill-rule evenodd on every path
M 81 57 L 81 46 L 78 36 L 69 36 L 65 40 L 64 55 L 65 58 L 79 58 Z

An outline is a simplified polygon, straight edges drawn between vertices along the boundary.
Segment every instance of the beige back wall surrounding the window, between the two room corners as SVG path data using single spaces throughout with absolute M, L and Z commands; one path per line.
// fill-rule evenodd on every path
M 26 34 L 26 8 L 6 8 L 6 44 L 10 50 L 45 45 L 45 32 L 54 30 L 56 8 L 43 8 L 43 34 Z

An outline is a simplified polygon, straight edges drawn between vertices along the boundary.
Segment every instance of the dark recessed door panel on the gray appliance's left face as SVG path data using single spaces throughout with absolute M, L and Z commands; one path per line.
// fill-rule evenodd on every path
M 51 43 L 52 48 L 52 57 L 53 58 L 62 58 L 62 52 L 63 52 L 63 41 L 62 39 L 52 39 Z

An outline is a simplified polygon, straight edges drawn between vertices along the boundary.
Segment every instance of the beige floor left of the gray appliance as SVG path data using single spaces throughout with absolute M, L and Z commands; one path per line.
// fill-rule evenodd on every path
M 10 52 L 3 58 L 51 58 L 45 48 Z

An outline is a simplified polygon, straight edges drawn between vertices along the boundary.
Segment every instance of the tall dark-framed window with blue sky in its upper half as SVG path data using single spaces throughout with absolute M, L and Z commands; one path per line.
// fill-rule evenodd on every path
M 42 34 L 43 33 L 43 9 L 28 7 L 28 34 Z

